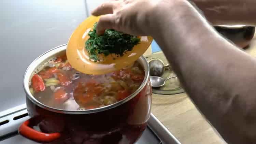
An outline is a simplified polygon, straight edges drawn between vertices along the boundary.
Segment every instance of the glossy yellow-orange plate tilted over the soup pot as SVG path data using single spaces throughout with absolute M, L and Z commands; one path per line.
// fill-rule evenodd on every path
M 84 20 L 71 35 L 67 46 L 67 58 L 76 70 L 86 74 L 106 74 L 120 70 L 136 61 L 150 46 L 152 37 L 143 36 L 141 42 L 133 47 L 122 57 L 113 59 L 111 55 L 106 56 L 102 62 L 94 62 L 89 59 L 85 49 L 85 41 L 89 38 L 88 32 L 93 29 L 95 22 L 100 17 L 90 16 Z

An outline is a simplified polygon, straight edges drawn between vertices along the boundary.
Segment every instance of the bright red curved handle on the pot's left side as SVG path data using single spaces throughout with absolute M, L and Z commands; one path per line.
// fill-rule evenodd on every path
M 26 120 L 22 125 L 19 126 L 18 132 L 19 134 L 25 136 L 28 139 L 38 141 L 38 142 L 52 142 L 60 138 L 60 133 L 43 133 L 34 130 L 29 127 L 29 124 L 33 123 L 34 118 L 30 118 Z

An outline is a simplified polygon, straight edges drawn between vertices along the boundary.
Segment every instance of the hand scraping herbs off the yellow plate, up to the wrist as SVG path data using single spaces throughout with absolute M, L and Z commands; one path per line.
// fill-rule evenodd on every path
M 173 4 L 170 0 L 109 0 L 92 14 L 103 15 L 98 22 L 98 34 L 104 33 L 105 29 L 115 29 L 132 35 L 151 35 L 170 4 Z

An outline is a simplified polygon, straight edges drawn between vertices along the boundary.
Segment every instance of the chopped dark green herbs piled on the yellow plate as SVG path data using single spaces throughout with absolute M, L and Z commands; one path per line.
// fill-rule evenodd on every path
M 87 50 L 90 59 L 98 61 L 99 54 L 108 56 L 115 54 L 123 56 L 127 51 L 131 51 L 134 45 L 140 42 L 136 36 L 118 32 L 113 29 L 108 29 L 103 35 L 96 34 L 97 23 L 94 24 L 92 31 L 88 33 L 90 38 L 85 42 L 85 49 Z

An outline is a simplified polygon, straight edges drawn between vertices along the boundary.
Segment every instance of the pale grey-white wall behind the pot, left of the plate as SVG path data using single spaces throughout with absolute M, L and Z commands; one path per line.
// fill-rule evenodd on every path
M 73 30 L 102 2 L 0 1 L 0 111 L 25 103 L 22 80 L 30 62 L 67 43 Z

